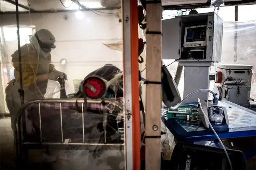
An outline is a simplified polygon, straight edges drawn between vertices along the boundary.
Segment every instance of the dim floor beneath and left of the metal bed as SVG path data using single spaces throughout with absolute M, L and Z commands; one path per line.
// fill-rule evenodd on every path
M 11 119 L 2 118 L 0 119 L 1 170 L 17 170 L 15 167 L 15 152 L 13 147 Z M 50 156 L 44 153 L 46 152 L 41 150 L 30 150 L 29 160 L 33 162 L 29 165 L 31 170 L 121 170 L 124 167 L 124 152 L 122 150 L 55 150 L 51 151 Z M 45 163 L 45 161 L 47 161 L 47 163 Z

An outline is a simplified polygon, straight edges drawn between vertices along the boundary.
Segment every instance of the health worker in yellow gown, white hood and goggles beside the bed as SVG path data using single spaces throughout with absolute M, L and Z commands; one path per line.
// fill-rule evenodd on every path
M 51 64 L 51 50 L 56 46 L 55 37 L 41 29 L 29 37 L 30 44 L 21 47 L 22 84 L 24 89 L 24 103 L 44 98 L 48 80 L 57 81 L 58 77 L 67 80 L 67 75 L 57 71 Z M 12 54 L 14 77 L 5 89 L 6 103 L 10 111 L 12 129 L 14 131 L 15 118 L 21 106 L 18 89 L 20 89 L 19 53 Z

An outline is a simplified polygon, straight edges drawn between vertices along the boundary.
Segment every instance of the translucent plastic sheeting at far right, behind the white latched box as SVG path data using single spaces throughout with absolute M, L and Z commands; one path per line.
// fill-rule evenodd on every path
M 246 64 L 253 66 L 251 98 L 256 98 L 256 20 L 223 22 L 223 64 Z

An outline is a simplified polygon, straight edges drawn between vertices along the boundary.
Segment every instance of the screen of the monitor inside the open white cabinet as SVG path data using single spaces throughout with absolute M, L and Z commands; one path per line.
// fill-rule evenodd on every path
M 206 26 L 187 28 L 186 42 L 205 41 L 206 29 Z

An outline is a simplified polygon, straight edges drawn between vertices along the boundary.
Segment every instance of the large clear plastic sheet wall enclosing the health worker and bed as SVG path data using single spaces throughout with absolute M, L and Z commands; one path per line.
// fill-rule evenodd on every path
M 79 9 L 73 1 L 62 1 L 63 4 L 60 1 L 20 1 L 23 5 L 28 2 L 34 10 L 56 11 L 33 13 L 31 10 L 19 14 L 25 99 L 22 108 L 18 92 L 16 15 L 1 14 L 0 111 L 11 117 L 0 128 L 1 148 L 8 148 L 1 149 L 1 169 L 15 168 L 15 149 L 22 163 L 20 166 L 26 165 L 28 169 L 124 169 L 123 93 L 117 96 L 115 88 L 110 89 L 105 94 L 106 106 L 101 100 L 88 98 L 87 109 L 82 107 L 84 99 L 78 99 L 78 107 L 76 99 L 72 99 L 80 84 L 77 80 L 84 80 L 91 72 L 107 64 L 123 71 L 123 52 L 108 47 L 123 41 L 122 22 L 115 16 L 120 7 L 108 1 L 105 5 L 110 8 L 102 10 L 100 1 L 81 1 L 81 5 L 99 10 L 86 8 L 88 11 L 71 12 L 69 10 Z M 35 33 L 41 29 L 50 31 L 54 38 L 37 37 Z M 30 48 L 31 37 L 35 40 L 33 48 Z M 105 129 L 102 128 L 104 113 Z M 18 147 L 14 147 L 18 114 L 21 118 L 17 129 L 19 136 L 15 136 Z

